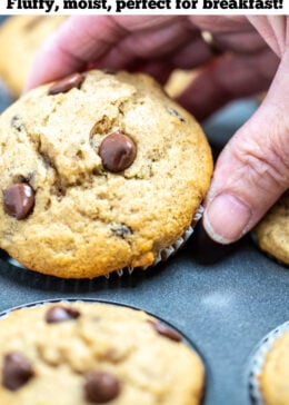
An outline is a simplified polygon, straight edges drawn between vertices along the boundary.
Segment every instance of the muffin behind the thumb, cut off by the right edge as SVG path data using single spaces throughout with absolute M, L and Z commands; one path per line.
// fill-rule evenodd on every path
M 255 235 L 260 248 L 289 265 L 289 191 L 277 201 L 257 225 Z

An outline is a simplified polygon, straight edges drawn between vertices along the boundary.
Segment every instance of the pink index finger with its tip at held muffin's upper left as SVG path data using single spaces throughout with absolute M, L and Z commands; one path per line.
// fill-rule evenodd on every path
M 70 17 L 38 52 L 26 90 L 83 70 L 130 33 L 169 26 L 172 19 L 172 16 Z

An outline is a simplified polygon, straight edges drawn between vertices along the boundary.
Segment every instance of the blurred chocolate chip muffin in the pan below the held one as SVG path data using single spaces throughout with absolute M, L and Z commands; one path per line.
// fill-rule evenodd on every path
M 197 405 L 202 362 L 141 310 L 56 303 L 0 319 L 0 403 Z

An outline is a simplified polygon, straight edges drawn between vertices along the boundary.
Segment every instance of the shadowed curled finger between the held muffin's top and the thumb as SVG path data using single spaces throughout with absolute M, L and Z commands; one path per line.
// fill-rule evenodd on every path
M 279 61 L 269 48 L 255 55 L 225 55 L 200 70 L 178 101 L 203 120 L 233 99 L 267 90 Z

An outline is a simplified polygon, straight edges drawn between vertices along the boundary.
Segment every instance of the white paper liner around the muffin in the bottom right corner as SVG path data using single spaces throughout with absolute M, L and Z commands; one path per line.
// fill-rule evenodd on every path
M 260 389 L 259 375 L 262 372 L 268 353 L 273 348 L 275 342 L 277 342 L 287 330 L 289 330 L 289 320 L 279 325 L 276 329 L 266 335 L 257 345 L 255 354 L 249 363 L 249 395 L 255 405 L 266 405 Z

